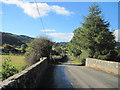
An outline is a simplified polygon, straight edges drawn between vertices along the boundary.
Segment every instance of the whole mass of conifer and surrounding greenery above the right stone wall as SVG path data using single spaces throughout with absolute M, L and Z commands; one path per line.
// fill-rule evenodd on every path
M 82 27 L 73 31 L 74 36 L 66 46 L 67 54 L 78 62 L 88 57 L 120 62 L 120 49 L 116 47 L 115 37 L 109 31 L 110 22 L 104 19 L 99 5 L 93 3 L 89 14 L 83 18 Z

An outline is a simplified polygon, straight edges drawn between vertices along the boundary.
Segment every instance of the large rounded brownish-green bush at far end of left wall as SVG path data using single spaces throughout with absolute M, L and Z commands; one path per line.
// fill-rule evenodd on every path
M 41 57 L 50 58 L 52 42 L 46 37 L 34 39 L 28 46 L 25 59 L 27 65 L 32 65 L 40 60 Z

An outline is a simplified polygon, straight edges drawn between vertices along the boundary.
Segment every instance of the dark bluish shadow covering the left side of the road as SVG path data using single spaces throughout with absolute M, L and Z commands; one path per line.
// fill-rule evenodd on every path
M 65 66 L 63 66 L 63 64 L 67 63 L 67 61 L 68 60 L 66 58 L 62 61 L 62 64 L 50 63 L 43 74 L 43 78 L 40 81 L 38 88 L 73 88 L 65 74 Z

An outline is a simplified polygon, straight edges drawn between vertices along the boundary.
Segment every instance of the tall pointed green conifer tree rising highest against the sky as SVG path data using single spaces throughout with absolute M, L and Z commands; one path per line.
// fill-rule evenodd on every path
M 83 17 L 82 27 L 74 30 L 70 46 L 76 48 L 73 50 L 78 48 L 88 50 L 89 57 L 92 58 L 110 59 L 116 42 L 112 32 L 109 31 L 110 23 L 103 18 L 101 12 L 96 3 L 89 7 L 89 15 Z

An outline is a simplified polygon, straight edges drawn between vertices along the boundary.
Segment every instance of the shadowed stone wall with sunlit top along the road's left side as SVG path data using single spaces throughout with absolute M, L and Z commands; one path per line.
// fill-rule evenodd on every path
M 48 67 L 47 58 L 28 67 L 0 83 L 0 89 L 4 88 L 37 88 L 45 69 Z

